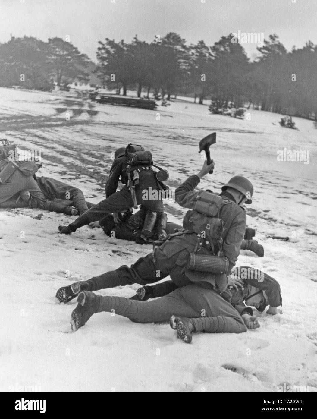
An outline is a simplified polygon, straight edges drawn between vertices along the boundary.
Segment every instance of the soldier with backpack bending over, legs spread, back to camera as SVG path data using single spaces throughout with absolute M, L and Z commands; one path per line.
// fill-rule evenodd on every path
M 128 145 L 126 148 L 121 147 L 116 150 L 114 157 L 106 183 L 106 199 L 90 208 L 70 225 L 60 225 L 59 233 L 71 234 L 90 222 L 102 220 L 108 214 L 114 213 L 117 216 L 120 211 L 142 204 L 144 209 L 157 213 L 159 218 L 157 223 L 161 223 L 162 234 L 166 236 L 162 194 L 158 194 L 158 199 L 154 200 L 152 195 L 144 194 L 144 191 L 168 189 L 157 180 L 152 168 L 152 154 L 141 146 Z M 124 187 L 116 191 L 119 178 Z

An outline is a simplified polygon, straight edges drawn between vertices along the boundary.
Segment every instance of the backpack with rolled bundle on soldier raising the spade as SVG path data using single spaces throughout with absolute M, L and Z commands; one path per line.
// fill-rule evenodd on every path
M 211 192 L 201 191 L 196 197 L 193 209 L 186 212 L 183 220 L 183 227 L 193 233 L 200 234 L 201 238 L 209 242 L 209 245 L 215 249 L 221 250 L 222 233 L 224 232 L 224 221 L 219 218 L 220 209 L 227 201 L 224 201 L 219 195 Z

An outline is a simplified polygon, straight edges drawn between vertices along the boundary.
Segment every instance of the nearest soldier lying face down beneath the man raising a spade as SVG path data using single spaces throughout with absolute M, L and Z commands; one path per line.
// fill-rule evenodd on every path
M 268 274 L 250 266 L 238 266 L 232 269 L 228 284 L 232 294 L 231 307 L 212 290 L 191 285 L 176 289 L 172 281 L 142 287 L 140 290 L 152 289 L 152 298 L 160 297 L 148 304 L 145 296 L 142 301 L 130 302 L 131 299 L 124 297 L 81 292 L 71 316 L 72 329 L 83 326 L 94 313 L 115 310 L 116 314 L 139 323 L 161 323 L 170 318 L 170 326 L 177 330 L 177 337 L 190 343 L 192 333 L 199 331 L 241 333 L 247 328 L 260 327 L 251 307 L 262 313 L 269 305 L 267 314 L 282 313 L 278 309 L 282 305 L 281 288 Z

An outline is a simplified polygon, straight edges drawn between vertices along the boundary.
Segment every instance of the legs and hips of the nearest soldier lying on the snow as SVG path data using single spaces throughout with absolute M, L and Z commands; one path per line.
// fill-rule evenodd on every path
M 85 325 L 94 313 L 111 312 L 137 323 L 170 321 L 178 339 L 191 343 L 192 333 L 242 333 L 260 324 L 248 308 L 241 314 L 214 290 L 195 284 L 180 287 L 165 297 L 152 301 L 133 301 L 125 297 L 109 297 L 83 291 L 72 311 L 72 330 Z

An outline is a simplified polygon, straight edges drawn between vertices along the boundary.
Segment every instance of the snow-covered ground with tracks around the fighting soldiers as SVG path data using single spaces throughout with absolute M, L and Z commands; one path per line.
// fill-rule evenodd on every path
M 0 88 L 0 137 L 41 150 L 39 176 L 80 187 L 103 199 L 111 152 L 128 142 L 152 150 L 170 172 L 171 188 L 197 173 L 198 141 L 217 132 L 214 191 L 232 175 L 253 182 L 247 224 L 265 256 L 242 251 L 240 265 L 263 269 L 281 285 L 283 314 L 263 315 L 243 334 L 195 334 L 186 345 L 168 325 L 137 324 L 100 313 L 70 330 L 75 300 L 57 304 L 59 287 L 131 264 L 151 246 L 108 238 L 100 229 L 57 233 L 71 218 L 36 209 L 0 209 L 0 390 L 41 391 L 276 391 L 277 385 L 317 390 L 317 131 L 294 118 L 250 110 L 250 120 L 209 114 L 208 107 L 175 101 L 156 111 L 83 102 L 81 93 Z M 278 150 L 309 150 L 309 164 L 278 161 Z M 166 201 L 169 219 L 185 210 Z M 35 217 L 43 213 L 41 220 Z M 289 236 L 284 242 L 267 235 Z M 103 290 L 130 297 L 138 285 Z

